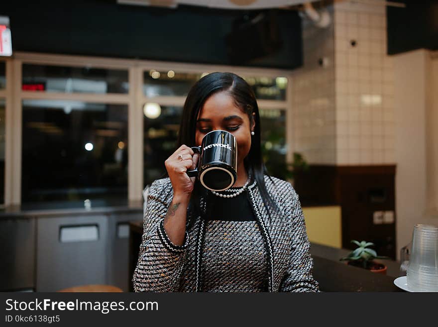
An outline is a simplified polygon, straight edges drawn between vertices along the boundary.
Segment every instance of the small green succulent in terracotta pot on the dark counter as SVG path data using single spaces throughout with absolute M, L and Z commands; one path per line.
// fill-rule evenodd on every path
M 378 256 L 375 250 L 370 249 L 369 246 L 373 246 L 374 243 L 367 241 L 359 242 L 354 239 L 351 242 L 356 244 L 358 248 L 348 253 L 346 257 L 341 258 L 341 261 L 347 261 L 347 264 L 351 266 L 368 269 L 376 273 L 386 274 L 386 265 L 375 262 L 374 259 L 389 258 L 385 256 Z

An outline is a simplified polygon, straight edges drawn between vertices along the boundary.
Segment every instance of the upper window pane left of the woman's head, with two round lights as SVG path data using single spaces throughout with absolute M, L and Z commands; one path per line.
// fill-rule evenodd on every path
M 203 76 L 203 73 L 177 73 L 172 70 L 145 71 L 143 74 L 143 93 L 146 97 L 187 96 L 190 88 Z

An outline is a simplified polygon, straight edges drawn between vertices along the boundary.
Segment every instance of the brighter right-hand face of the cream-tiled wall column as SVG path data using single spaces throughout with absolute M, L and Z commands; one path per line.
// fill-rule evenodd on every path
M 334 4 L 338 165 L 395 162 L 394 81 L 386 55 L 385 10 L 353 1 Z

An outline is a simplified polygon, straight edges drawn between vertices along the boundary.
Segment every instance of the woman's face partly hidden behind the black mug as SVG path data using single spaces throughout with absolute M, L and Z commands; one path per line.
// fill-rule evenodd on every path
M 205 134 L 222 129 L 234 135 L 237 141 L 237 161 L 243 163 L 251 148 L 251 131 L 255 122 L 249 121 L 248 114 L 236 107 L 233 98 L 226 92 L 213 94 L 204 103 L 196 125 L 196 145 L 200 146 Z

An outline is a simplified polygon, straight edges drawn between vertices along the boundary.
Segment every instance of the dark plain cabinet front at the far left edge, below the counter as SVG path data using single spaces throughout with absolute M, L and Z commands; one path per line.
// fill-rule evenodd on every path
M 35 287 L 35 219 L 0 219 L 0 291 Z

